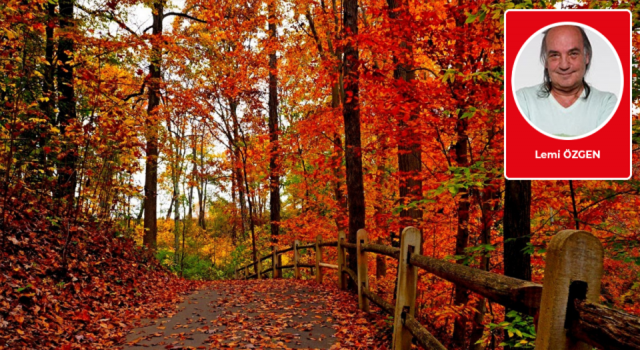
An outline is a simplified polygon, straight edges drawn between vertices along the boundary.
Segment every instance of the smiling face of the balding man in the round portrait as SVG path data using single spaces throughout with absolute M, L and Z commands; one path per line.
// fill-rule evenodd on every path
M 557 26 L 547 33 L 547 70 L 553 89 L 570 91 L 580 88 L 589 57 L 584 54 L 580 29 Z

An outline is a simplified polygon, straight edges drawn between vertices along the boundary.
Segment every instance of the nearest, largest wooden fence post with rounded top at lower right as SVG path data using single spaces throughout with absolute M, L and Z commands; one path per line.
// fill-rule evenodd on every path
M 564 328 L 573 281 L 587 283 L 587 300 L 598 303 L 604 250 L 600 240 L 586 231 L 563 230 L 550 241 L 540 301 L 536 350 L 590 350 L 568 337 Z

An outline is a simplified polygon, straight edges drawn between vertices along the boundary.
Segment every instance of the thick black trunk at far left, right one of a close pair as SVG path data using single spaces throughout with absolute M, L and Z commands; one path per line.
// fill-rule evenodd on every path
M 71 141 L 65 137 L 65 132 L 70 123 L 76 120 L 76 91 L 74 90 L 74 1 L 60 0 L 60 39 L 58 40 L 58 125 L 60 134 L 64 139 L 62 154 L 63 157 L 58 167 L 58 185 L 54 191 L 55 198 L 67 198 L 68 204 L 72 205 L 73 197 L 76 195 L 76 147 L 71 145 Z M 47 46 L 49 42 L 47 42 Z M 45 54 L 48 47 L 45 48 Z M 52 48 L 51 48 L 52 49 Z M 70 207 L 69 207 L 70 208 Z

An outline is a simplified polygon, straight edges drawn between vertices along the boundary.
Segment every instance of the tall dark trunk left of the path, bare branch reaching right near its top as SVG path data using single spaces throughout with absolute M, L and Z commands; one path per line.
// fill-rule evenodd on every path
M 145 166 L 145 235 L 143 245 L 156 251 L 157 246 L 157 186 L 158 186 L 158 122 L 157 107 L 160 105 L 160 87 L 162 79 L 160 65 L 162 49 L 159 41 L 162 36 L 164 6 L 161 1 L 153 3 L 152 57 L 149 65 L 149 88 L 147 106 L 147 164 Z

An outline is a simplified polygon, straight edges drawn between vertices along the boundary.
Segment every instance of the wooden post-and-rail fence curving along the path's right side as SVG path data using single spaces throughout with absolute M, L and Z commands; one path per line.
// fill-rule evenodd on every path
M 369 301 L 394 315 L 393 348 L 411 348 L 412 338 L 425 349 L 446 350 L 414 317 L 418 269 L 424 269 L 476 292 L 491 301 L 527 315 L 538 315 L 536 350 L 590 350 L 591 346 L 611 350 L 640 350 L 640 318 L 598 305 L 600 279 L 603 273 L 604 250 L 592 234 L 579 230 L 564 230 L 556 234 L 547 250 L 547 266 L 543 285 L 518 280 L 502 274 L 474 269 L 440 259 L 420 255 L 421 237 L 417 228 L 404 228 L 400 248 L 367 241 L 367 232 L 358 230 L 356 243 L 348 243 L 344 232 L 338 241 L 300 245 L 274 250 L 256 262 L 236 269 L 236 278 L 262 278 L 273 271 L 273 278 L 282 276 L 282 269 L 294 269 L 300 278 L 301 268 L 315 270 L 316 281 L 322 283 L 324 269 L 337 269 L 340 289 L 346 289 L 349 276 L 358 286 L 358 307 L 369 312 Z M 337 247 L 336 265 L 323 262 L 324 247 Z M 316 250 L 315 264 L 301 264 L 298 250 Z M 293 264 L 282 265 L 282 254 L 293 251 Z M 367 252 L 399 260 L 396 305 L 369 290 Z M 347 267 L 346 254 L 357 257 L 357 271 Z M 262 269 L 262 262 L 271 259 L 271 266 Z M 257 274 L 249 267 L 257 265 Z

